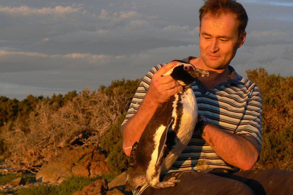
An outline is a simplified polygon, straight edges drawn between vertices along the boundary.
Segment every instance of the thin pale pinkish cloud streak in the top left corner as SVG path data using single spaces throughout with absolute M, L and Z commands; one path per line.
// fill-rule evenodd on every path
M 0 12 L 7 13 L 11 15 L 23 15 L 23 16 L 31 16 L 31 15 L 45 15 L 45 14 L 69 14 L 69 13 L 75 13 L 75 12 L 81 12 L 81 7 L 74 8 L 71 6 L 62 7 L 62 6 L 56 6 L 56 7 L 43 7 L 41 9 L 37 8 L 31 8 L 28 6 L 20 6 L 20 7 L 3 7 L 0 5 Z

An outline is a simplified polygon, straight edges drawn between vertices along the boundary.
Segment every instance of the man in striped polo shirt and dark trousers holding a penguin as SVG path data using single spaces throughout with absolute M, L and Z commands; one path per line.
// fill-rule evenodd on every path
M 175 176 L 182 181 L 164 189 L 146 185 L 143 194 L 279 193 L 281 184 L 292 184 L 293 174 L 284 170 L 250 171 L 261 149 L 261 95 L 255 83 L 229 65 L 246 38 L 246 11 L 235 0 L 207 0 L 199 13 L 200 56 L 183 61 L 210 73 L 192 83 L 203 121 L 164 175 L 164 180 Z M 171 76 L 161 76 L 176 63 L 153 67 L 140 83 L 121 126 L 126 155 L 130 155 L 131 146 L 139 140 L 158 105 L 183 90 Z M 282 180 L 277 179 L 280 177 Z

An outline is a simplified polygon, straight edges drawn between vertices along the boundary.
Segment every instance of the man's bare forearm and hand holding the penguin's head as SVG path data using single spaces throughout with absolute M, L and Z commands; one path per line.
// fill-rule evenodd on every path
M 177 61 L 172 61 L 160 68 L 152 77 L 149 90 L 140 107 L 124 125 L 121 126 L 123 137 L 123 150 L 130 156 L 131 146 L 140 139 L 140 136 L 155 113 L 159 104 L 167 101 L 172 95 L 183 91 L 171 76 L 162 76 L 168 70 L 177 65 Z

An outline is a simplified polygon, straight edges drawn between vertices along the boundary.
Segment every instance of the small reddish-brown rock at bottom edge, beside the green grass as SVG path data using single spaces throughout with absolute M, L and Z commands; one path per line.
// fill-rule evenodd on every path
M 97 179 L 94 183 L 84 186 L 82 190 L 74 192 L 73 195 L 105 194 L 107 190 L 107 181 L 105 179 Z

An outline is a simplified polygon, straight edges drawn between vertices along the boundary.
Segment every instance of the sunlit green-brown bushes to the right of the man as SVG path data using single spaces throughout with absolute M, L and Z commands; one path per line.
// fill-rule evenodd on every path
M 255 168 L 293 170 L 293 77 L 247 70 L 263 101 L 262 148 Z

